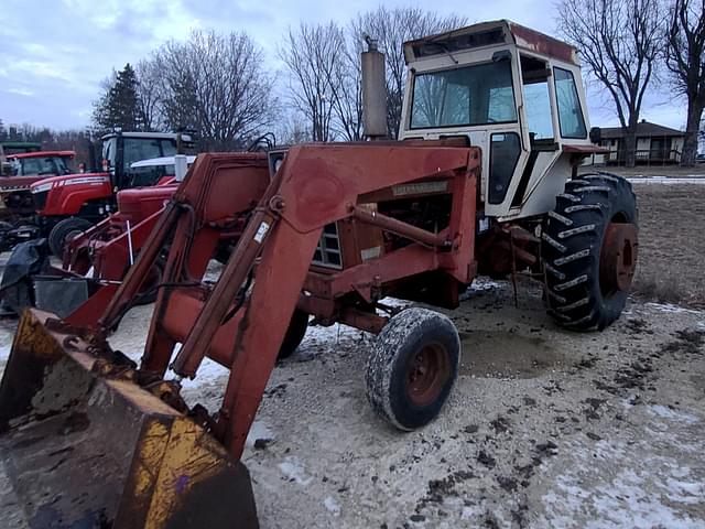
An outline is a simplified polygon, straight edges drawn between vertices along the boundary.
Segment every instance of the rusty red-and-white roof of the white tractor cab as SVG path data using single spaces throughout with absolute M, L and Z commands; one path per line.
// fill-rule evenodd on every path
M 409 64 L 432 55 L 505 44 L 513 44 L 520 50 L 528 50 L 576 66 L 581 64 L 574 46 L 509 20 L 481 22 L 405 42 L 404 58 Z

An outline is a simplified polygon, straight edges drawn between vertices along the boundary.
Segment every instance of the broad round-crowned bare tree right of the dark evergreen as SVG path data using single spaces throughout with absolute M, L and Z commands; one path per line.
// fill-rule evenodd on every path
M 273 79 L 246 33 L 195 31 L 152 57 L 160 112 L 171 128 L 194 127 L 203 150 L 242 148 L 272 122 Z

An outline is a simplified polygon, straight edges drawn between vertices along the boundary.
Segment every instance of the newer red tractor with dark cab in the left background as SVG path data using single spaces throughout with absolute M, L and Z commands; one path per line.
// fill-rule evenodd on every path
M 116 210 L 120 190 L 171 180 L 163 165 L 133 168 L 133 162 L 173 156 L 191 147 L 185 133 L 112 132 L 102 137 L 102 171 L 54 176 L 32 184 L 42 231 L 52 252 L 61 257 L 66 240 Z

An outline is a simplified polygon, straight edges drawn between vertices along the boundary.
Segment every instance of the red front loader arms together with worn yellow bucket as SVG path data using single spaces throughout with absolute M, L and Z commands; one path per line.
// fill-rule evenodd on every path
M 478 166 L 477 149 L 443 140 L 294 147 L 271 181 L 262 154 L 199 156 L 110 300 L 99 332 L 35 312 L 23 319 L 0 387 L 0 441 L 8 441 L 0 451 L 17 460 L 13 479 L 29 498 L 28 514 L 51 507 L 61 519 L 167 528 L 188 520 L 197 526 L 205 509 L 208 527 L 230 527 L 232 519 L 257 527 L 239 458 L 294 311 L 379 333 L 388 321 L 377 312 L 386 295 L 457 305 L 475 274 Z M 413 206 L 424 201 L 443 206 L 434 229 L 426 209 Z M 250 219 L 220 277 L 215 284 L 204 281 L 219 238 L 243 213 Z M 338 234 L 339 264 L 313 260 L 325 251 L 324 229 Z M 165 247 L 163 283 L 135 368 L 106 337 Z M 214 415 L 189 410 L 178 396 L 178 377 L 196 377 L 206 357 L 230 369 Z M 170 367 L 176 380 L 165 379 Z M 82 382 L 56 393 L 64 379 Z M 80 434 L 90 450 L 66 456 L 52 450 L 46 432 L 77 412 L 89 421 L 76 439 Z M 112 477 L 100 487 L 91 485 L 101 476 L 98 464 L 68 474 L 78 483 L 85 476 L 80 494 L 100 490 L 93 510 L 78 511 L 61 489 L 43 496 L 42 483 L 52 490 L 64 479 L 59 474 L 51 483 L 28 477 L 35 475 L 26 465 L 36 453 L 15 447 L 35 430 L 45 439 L 42 453 L 56 454 L 46 457 L 46 472 L 57 463 L 66 472 L 84 468 L 96 461 L 93 447 L 119 447 Z M 226 488 L 227 498 L 215 494 Z M 52 527 L 51 520 L 36 527 Z

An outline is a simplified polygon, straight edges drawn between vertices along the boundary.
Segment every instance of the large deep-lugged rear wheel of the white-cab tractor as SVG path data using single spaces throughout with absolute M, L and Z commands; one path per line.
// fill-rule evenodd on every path
M 619 230 L 631 231 L 617 239 Z M 637 198 L 627 180 L 600 172 L 565 184 L 542 230 L 549 312 L 560 325 L 603 330 L 619 317 L 636 269 L 637 231 Z M 608 251 L 615 242 L 618 251 Z

